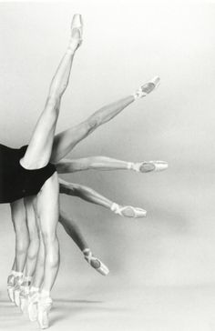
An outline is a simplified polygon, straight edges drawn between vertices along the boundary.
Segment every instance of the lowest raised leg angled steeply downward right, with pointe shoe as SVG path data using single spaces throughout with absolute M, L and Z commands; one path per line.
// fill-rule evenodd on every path
M 64 227 L 67 235 L 70 236 L 77 244 L 78 248 L 84 254 L 87 263 L 92 266 L 97 272 L 103 276 L 107 276 L 109 270 L 101 260 L 93 255 L 91 249 L 87 245 L 84 236 L 81 234 L 77 224 L 71 217 L 68 217 L 64 212 L 60 211 L 59 222 Z

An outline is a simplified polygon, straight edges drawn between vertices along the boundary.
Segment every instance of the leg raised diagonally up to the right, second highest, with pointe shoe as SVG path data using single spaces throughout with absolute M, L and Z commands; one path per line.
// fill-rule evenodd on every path
M 87 135 L 90 135 L 98 126 L 110 121 L 139 97 L 148 95 L 155 89 L 155 87 L 157 87 L 157 85 L 159 85 L 159 77 L 155 77 L 147 84 L 142 85 L 135 94 L 128 95 L 117 102 L 102 107 L 97 110 L 96 113 L 90 115 L 86 121 L 56 135 L 53 144 L 51 162 L 57 164 L 75 147 L 75 145 L 77 145 L 78 142 L 86 138 Z M 141 93 L 140 90 L 142 91 Z

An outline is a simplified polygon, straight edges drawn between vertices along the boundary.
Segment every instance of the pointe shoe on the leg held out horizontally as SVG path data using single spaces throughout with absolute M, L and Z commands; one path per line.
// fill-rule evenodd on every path
M 166 170 L 168 163 L 165 161 L 144 161 L 139 163 L 129 163 L 128 169 L 137 171 L 138 173 L 159 172 Z

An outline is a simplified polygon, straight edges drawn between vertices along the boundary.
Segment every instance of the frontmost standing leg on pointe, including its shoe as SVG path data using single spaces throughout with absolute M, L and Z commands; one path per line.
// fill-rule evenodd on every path
M 52 306 L 50 291 L 55 283 L 59 267 L 59 246 L 56 226 L 59 218 L 59 185 L 57 174 L 46 180 L 37 196 L 36 209 L 39 216 L 40 230 L 45 247 L 45 268 L 43 284 L 37 304 L 38 323 L 41 328 L 48 327 L 48 313 Z

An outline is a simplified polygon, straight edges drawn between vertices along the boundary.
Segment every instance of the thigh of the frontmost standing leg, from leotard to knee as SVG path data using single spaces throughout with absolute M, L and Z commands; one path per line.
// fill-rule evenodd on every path
M 59 217 L 59 184 L 57 174 L 46 180 L 37 196 L 36 211 L 43 237 L 55 239 Z

